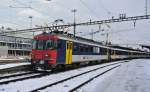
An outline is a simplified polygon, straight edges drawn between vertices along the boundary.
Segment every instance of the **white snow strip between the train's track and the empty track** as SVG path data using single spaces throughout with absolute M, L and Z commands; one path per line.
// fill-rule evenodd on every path
M 115 63 L 115 62 L 113 62 L 113 63 Z M 95 68 L 98 68 L 98 67 L 104 66 L 104 65 L 107 65 L 107 64 L 89 66 L 86 68 L 80 68 L 80 69 L 66 71 L 66 72 L 62 72 L 62 73 L 58 73 L 58 74 L 52 74 L 52 75 L 44 76 L 41 78 L 28 79 L 28 80 L 19 81 L 16 83 L 15 82 L 10 83 L 8 85 L 1 85 L 0 91 L 2 91 L 2 92 L 18 92 L 18 91 L 28 92 L 28 91 L 31 91 L 33 89 L 42 87 L 44 85 L 54 83 L 58 80 L 65 79 L 65 78 L 83 73 L 83 72 L 88 71 L 88 70 L 93 70 Z M 52 91 L 52 92 L 57 92 L 57 90 Z

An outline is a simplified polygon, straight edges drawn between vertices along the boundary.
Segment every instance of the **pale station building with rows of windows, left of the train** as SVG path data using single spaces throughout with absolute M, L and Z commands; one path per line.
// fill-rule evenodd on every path
M 29 56 L 32 48 L 32 39 L 15 36 L 0 35 L 1 56 Z

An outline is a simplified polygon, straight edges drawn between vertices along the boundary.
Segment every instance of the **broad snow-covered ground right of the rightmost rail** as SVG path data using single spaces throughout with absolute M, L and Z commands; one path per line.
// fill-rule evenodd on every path
M 78 92 L 150 92 L 150 60 L 137 59 L 124 63 Z

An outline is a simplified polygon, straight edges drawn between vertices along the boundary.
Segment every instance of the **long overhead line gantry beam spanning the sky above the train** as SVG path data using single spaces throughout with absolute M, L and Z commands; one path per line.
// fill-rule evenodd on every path
M 118 19 L 108 19 L 108 20 L 101 20 L 101 21 L 90 21 L 90 22 L 84 22 L 84 23 L 73 23 L 73 24 L 66 24 L 66 25 L 57 25 L 57 26 L 49 26 L 49 27 L 42 27 L 42 28 L 32 28 L 32 29 L 23 29 L 23 30 L 16 30 L 11 32 L 3 32 L 3 33 L 22 33 L 22 32 L 36 32 L 41 31 L 42 29 L 48 29 L 48 30 L 55 30 L 55 29 L 64 29 L 68 27 L 74 27 L 74 26 L 88 26 L 88 25 L 97 25 L 97 24 L 107 24 L 107 23 L 116 23 L 116 22 L 124 22 L 124 21 L 136 21 L 136 20 L 143 20 L 143 19 L 150 19 L 150 15 L 144 15 L 144 16 L 135 16 L 135 17 L 125 17 L 125 18 L 118 18 Z M 0 33 L 0 34 L 3 34 Z

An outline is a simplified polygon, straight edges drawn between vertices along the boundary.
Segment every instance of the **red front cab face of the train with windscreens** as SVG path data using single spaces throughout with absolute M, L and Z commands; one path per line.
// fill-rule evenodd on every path
M 31 54 L 33 68 L 48 69 L 56 64 L 57 39 L 55 37 L 35 37 Z

